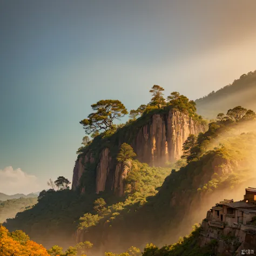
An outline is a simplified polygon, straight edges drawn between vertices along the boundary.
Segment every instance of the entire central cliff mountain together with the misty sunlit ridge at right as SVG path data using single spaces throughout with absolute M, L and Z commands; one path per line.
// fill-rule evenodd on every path
M 224 119 L 207 128 L 193 102 L 187 107 L 179 97 L 172 93 L 175 105 L 97 134 L 78 151 L 72 190 L 43 191 L 38 204 L 4 226 L 47 248 L 90 241 L 91 255 L 104 255 L 176 242 L 216 201 L 239 200 L 256 183 L 255 120 Z M 190 247 L 198 238 L 192 237 Z

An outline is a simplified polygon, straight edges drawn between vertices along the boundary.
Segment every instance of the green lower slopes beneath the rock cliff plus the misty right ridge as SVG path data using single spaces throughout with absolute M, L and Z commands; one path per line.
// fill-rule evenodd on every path
M 255 185 L 254 127 L 255 121 L 246 120 L 211 123 L 191 149 L 192 154 L 200 149 L 197 156 L 183 167 L 174 170 L 171 165 L 165 170 L 133 160 L 136 171 L 127 174 L 124 196 L 113 196 L 111 191 L 49 191 L 4 225 L 10 231 L 22 229 L 46 247 L 91 241 L 96 255 L 120 253 L 131 246 L 142 249 L 148 242 L 158 246 L 176 242 L 205 218 L 216 201 L 241 200 L 244 188 Z M 129 185 L 136 184 L 132 191 Z M 103 201 L 97 206 L 100 198 L 105 205 Z

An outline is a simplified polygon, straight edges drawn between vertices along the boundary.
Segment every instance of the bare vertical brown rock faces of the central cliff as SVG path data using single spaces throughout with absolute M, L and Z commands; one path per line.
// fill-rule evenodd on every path
M 188 117 L 188 114 L 171 110 L 166 114 L 153 114 L 145 125 L 138 127 L 135 135 L 126 133 L 124 137 L 118 138 L 114 146 L 119 147 L 124 142 L 129 143 L 127 139 L 130 139 L 129 144 L 140 162 L 160 166 L 166 161 L 180 158 L 183 143 L 189 134 L 198 134 L 205 130 L 204 125 L 195 122 Z M 129 166 L 117 164 L 111 153 L 109 148 L 104 148 L 100 151 L 98 160 L 93 158 L 90 150 L 84 157 L 80 157 L 73 170 L 72 189 L 75 190 L 79 185 L 86 163 L 95 163 L 96 192 L 108 189 L 121 195 L 124 188 L 123 179 L 125 173 L 129 171 Z

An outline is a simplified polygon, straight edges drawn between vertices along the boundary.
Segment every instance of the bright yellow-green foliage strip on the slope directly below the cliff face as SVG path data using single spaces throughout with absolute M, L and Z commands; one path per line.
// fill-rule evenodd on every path
M 121 220 L 130 212 L 138 211 L 147 199 L 157 193 L 156 188 L 161 186 L 165 177 L 170 174 L 169 168 L 152 168 L 147 164 L 141 164 L 134 160 L 131 163 L 132 169 L 126 177 L 125 196 L 116 204 L 106 205 L 103 198 L 97 199 L 93 204 L 93 210 L 85 213 L 80 218 L 79 230 L 86 230 L 90 235 L 93 244 L 98 240 L 98 230 L 107 224 Z M 103 193 L 104 195 L 104 193 Z M 97 227 L 98 226 L 98 227 Z

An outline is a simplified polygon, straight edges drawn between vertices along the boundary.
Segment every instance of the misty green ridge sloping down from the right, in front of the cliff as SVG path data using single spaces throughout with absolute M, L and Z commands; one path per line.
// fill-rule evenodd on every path
M 117 238 L 122 240 L 123 248 L 131 245 L 142 248 L 146 240 L 163 244 L 163 242 L 170 242 L 170 238 L 178 239 L 177 235 L 186 231 L 186 228 L 178 231 L 181 224 L 190 225 L 194 219 L 200 221 L 205 217 L 208 208 L 215 203 L 215 201 L 211 203 L 210 200 L 214 194 L 235 190 L 239 184 L 253 177 L 251 170 L 254 170 L 256 134 L 242 132 L 250 129 L 251 125 L 255 124 L 246 119 L 241 119 L 238 123 L 230 119 L 210 123 L 208 131 L 200 133 L 196 140 L 193 140 L 193 145 L 188 147 L 187 157 L 191 157 L 188 164 L 184 166 L 182 162 L 176 163 L 181 165 L 180 170 L 174 170 L 165 179 L 156 196 L 147 197 L 146 202 L 140 206 L 132 204 L 127 207 L 123 203 L 117 204 L 118 207 L 122 207 L 114 214 L 111 207 L 106 207 L 105 212 L 98 215 L 97 223 L 89 228 L 86 238 L 93 239 L 93 243 L 97 245 L 99 242 L 97 235 L 100 232 L 107 232 L 109 242 L 106 250 L 116 248 L 110 241 L 115 241 Z M 195 153 L 196 157 L 194 157 Z M 136 174 L 138 172 L 129 173 L 132 182 L 141 180 L 140 177 L 136 177 Z M 129 175 L 126 178 L 126 192 L 134 193 L 132 188 L 136 183 L 129 186 Z M 134 193 L 136 194 L 137 192 Z M 190 209 L 196 209 L 199 206 L 202 209 L 200 214 L 203 215 L 194 212 L 187 214 Z M 139 234 L 138 237 L 131 237 L 131 234 L 136 233 Z M 185 241 L 183 246 L 190 244 L 188 242 L 190 240 L 185 239 Z M 181 247 L 184 249 L 183 246 L 174 246 L 175 250 L 171 252 L 169 247 L 159 250 L 167 250 L 170 255 L 179 255 Z M 212 248 L 211 245 L 209 246 L 205 247 L 205 254 L 197 254 L 200 250 L 195 247 L 195 251 L 192 251 L 194 254 L 184 252 L 184 255 L 208 255 L 207 250 L 211 251 Z M 116 252 L 118 251 L 120 250 L 116 248 Z

